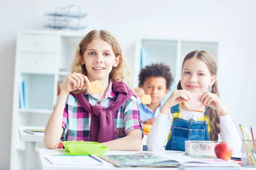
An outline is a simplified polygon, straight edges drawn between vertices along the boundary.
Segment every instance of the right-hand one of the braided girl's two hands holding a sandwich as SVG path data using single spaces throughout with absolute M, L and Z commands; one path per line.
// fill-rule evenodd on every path
M 202 94 L 201 96 L 201 102 L 204 102 L 204 105 L 207 105 L 218 111 L 221 116 L 227 115 L 227 109 L 221 104 L 221 101 L 217 94 L 204 92 L 204 94 Z

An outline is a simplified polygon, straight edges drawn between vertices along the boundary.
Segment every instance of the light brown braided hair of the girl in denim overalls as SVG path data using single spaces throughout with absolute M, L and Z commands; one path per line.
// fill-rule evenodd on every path
M 187 54 L 182 63 L 182 70 L 186 60 L 191 58 L 201 59 L 207 65 L 209 72 L 212 76 L 217 74 L 217 70 L 218 70 L 217 62 L 215 58 L 212 56 L 212 54 L 210 54 L 207 51 L 192 51 L 189 54 Z M 180 89 L 182 89 L 182 87 L 179 81 L 177 85 L 177 90 L 180 90 Z M 212 85 L 211 93 L 217 94 L 217 96 L 219 96 L 217 80 L 215 80 L 214 84 Z M 211 140 L 218 141 L 218 134 L 221 132 L 219 113 L 213 108 L 209 107 L 207 111 L 207 117 L 209 118 L 209 121 L 211 124 L 211 134 L 210 134 Z

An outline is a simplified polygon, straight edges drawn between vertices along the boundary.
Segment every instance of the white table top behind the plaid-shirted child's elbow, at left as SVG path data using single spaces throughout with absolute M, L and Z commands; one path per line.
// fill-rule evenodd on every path
M 19 127 L 20 141 L 44 142 L 44 135 L 33 135 L 23 131 L 24 129 L 44 129 L 44 128 L 45 127 L 41 127 L 41 126 L 20 126 Z

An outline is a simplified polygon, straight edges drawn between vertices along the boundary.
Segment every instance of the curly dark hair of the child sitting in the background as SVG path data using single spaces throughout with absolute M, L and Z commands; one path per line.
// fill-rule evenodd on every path
M 166 79 L 166 87 L 170 88 L 172 85 L 173 77 L 171 69 L 168 65 L 159 63 L 147 65 L 145 68 L 141 69 L 139 74 L 139 87 L 143 86 L 146 77 L 164 77 Z

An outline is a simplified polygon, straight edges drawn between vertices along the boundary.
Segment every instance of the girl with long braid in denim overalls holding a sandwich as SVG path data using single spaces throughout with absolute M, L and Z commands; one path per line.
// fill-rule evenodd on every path
M 207 51 L 192 51 L 182 63 L 177 90 L 163 104 L 148 134 L 148 150 L 185 151 L 186 140 L 221 141 L 239 152 L 241 140 L 227 109 L 222 105 L 216 80 L 217 63 Z M 211 87 L 211 92 L 207 92 Z M 186 103 L 199 94 L 203 111 L 189 109 Z M 167 144 L 166 144 L 167 142 Z

